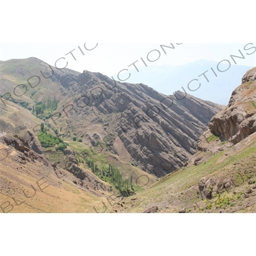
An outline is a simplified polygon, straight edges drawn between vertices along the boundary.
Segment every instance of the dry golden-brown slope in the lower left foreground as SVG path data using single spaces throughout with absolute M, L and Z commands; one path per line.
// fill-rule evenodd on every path
M 3 132 L 0 170 L 0 212 L 95 212 L 113 193 L 90 170 L 80 170 L 84 179 L 77 179 L 22 138 Z

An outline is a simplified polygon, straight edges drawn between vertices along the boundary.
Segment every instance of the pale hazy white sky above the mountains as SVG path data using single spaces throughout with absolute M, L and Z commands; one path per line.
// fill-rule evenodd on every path
M 172 43 L 175 49 L 164 47 L 166 54 L 160 45 L 171 46 L 171 43 L 158 44 L 1 44 L 0 60 L 20 59 L 36 57 L 40 60 L 54 65 L 56 60 L 59 67 L 64 67 L 68 61 L 67 68 L 83 72 L 100 72 L 107 76 L 118 74 L 124 68 L 132 69 L 132 63 L 136 62 L 136 67 L 144 66 L 141 58 L 147 65 L 184 65 L 196 60 L 222 61 L 228 59 L 230 54 L 240 55 L 239 50 L 244 53 L 244 44 L 182 44 Z M 254 44 L 256 45 L 256 44 Z M 79 47 L 81 48 L 80 51 Z M 75 49 L 75 50 L 74 50 Z M 72 51 L 74 50 L 74 51 Z M 157 51 L 156 51 L 157 50 Z M 71 52 L 74 55 L 72 56 Z M 153 51 L 153 52 L 151 52 Z M 159 53 L 160 52 L 160 53 Z M 149 54 L 150 53 L 150 54 Z M 66 55 L 67 54 L 67 55 Z M 83 55 L 84 54 L 84 55 Z M 158 60 L 150 62 L 147 60 Z M 76 58 L 76 60 L 74 60 Z M 237 61 L 238 65 L 256 67 L 256 54 L 246 56 L 245 60 Z M 131 65 L 131 67 L 129 67 Z

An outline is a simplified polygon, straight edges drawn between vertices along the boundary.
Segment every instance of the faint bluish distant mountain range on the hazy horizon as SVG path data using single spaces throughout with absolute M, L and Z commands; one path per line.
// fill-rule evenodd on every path
M 231 65 L 228 68 L 227 61 L 223 61 L 218 67 L 221 71 L 227 71 L 220 72 L 217 67 L 218 62 L 207 60 L 199 60 L 177 67 L 152 65 L 138 68 L 140 72 L 136 69 L 127 72 L 131 73 L 131 77 L 125 82 L 147 84 L 157 90 L 157 92 L 164 93 L 165 95 L 172 95 L 177 90 L 182 91 L 183 87 L 187 93 L 195 97 L 227 105 L 231 93 L 241 84 L 241 77 L 252 67 Z M 204 73 L 205 76 L 202 75 Z M 120 77 L 128 77 L 128 75 L 122 72 Z M 207 77 L 209 82 L 207 82 L 205 77 Z M 114 78 L 117 79 L 116 76 Z M 191 90 L 196 90 L 199 83 L 201 83 L 200 88 L 195 92 L 188 89 L 188 83 L 193 79 L 198 79 L 198 81 L 191 82 Z

